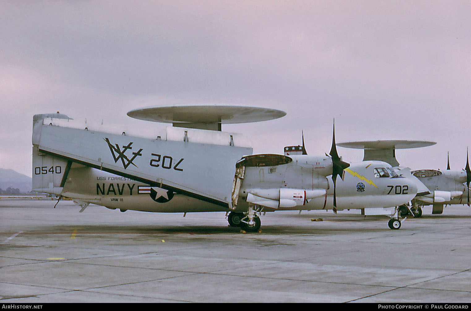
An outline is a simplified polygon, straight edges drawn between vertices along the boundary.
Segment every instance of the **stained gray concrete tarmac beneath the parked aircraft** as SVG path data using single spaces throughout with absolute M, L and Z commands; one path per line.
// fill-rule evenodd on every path
M 470 303 L 471 208 L 388 217 L 154 214 L 0 201 L 1 303 Z M 322 222 L 312 222 L 313 218 Z

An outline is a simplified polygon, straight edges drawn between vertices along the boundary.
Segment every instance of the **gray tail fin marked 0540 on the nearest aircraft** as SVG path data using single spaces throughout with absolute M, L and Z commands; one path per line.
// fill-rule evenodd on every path
M 57 113 L 36 114 L 33 116 L 32 133 L 32 190 L 59 195 L 64 187 L 65 179 L 72 162 L 49 154 L 39 152 L 38 137 L 45 119 L 69 119 Z M 40 125 L 40 126 L 36 126 Z

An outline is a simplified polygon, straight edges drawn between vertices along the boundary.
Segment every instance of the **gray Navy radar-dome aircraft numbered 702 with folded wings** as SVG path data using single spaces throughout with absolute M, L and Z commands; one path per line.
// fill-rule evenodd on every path
M 121 211 L 224 211 L 230 225 L 246 231 L 260 229 L 262 211 L 398 207 L 415 197 L 414 183 L 385 162 L 343 162 L 335 131 L 325 157 L 252 155 L 244 136 L 221 131 L 221 124 L 284 114 L 236 106 L 128 112 L 173 124 L 151 136 L 113 134 L 64 114 L 38 114 L 33 117 L 33 190 L 73 198 L 81 211 L 90 203 Z M 399 229 L 401 220 L 396 212 L 390 228 Z

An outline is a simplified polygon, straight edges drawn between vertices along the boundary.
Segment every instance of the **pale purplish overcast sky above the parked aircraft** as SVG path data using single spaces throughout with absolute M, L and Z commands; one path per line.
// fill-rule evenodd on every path
M 31 176 L 32 116 L 130 119 L 146 106 L 230 104 L 287 115 L 223 130 L 254 152 L 431 140 L 402 165 L 465 166 L 471 1 L 18 1 L 0 18 L 0 167 Z M 363 152 L 339 148 L 346 161 Z

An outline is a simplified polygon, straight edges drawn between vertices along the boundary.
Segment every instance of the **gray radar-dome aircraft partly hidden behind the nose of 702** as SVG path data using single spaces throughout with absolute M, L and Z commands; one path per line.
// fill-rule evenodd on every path
M 463 171 L 450 170 L 448 158 L 447 170 L 420 169 L 411 171 L 408 167 L 399 166 L 396 159 L 396 149 L 419 148 L 436 144 L 424 141 L 365 141 L 337 144 L 340 147 L 364 149 L 365 159 L 376 159 L 390 163 L 395 167 L 399 175 L 407 176 L 416 181 L 417 196 L 411 201 L 411 205 L 399 208 L 404 216 L 412 214 L 414 217 L 422 215 L 422 207 L 432 205 L 432 214 L 443 213 L 444 205 L 465 204 L 470 205 L 469 185 L 471 182 L 471 170 L 468 153 L 466 153 L 466 167 Z M 466 183 L 466 185 L 465 185 Z

